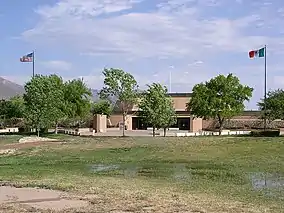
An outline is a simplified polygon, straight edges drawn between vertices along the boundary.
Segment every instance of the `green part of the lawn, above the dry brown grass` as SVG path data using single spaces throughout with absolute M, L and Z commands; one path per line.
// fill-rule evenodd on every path
M 64 187 L 83 191 L 87 190 L 88 181 L 130 178 L 145 187 L 158 184 L 159 189 L 174 187 L 183 194 L 206 194 L 223 199 L 224 203 L 240 201 L 264 205 L 271 212 L 284 212 L 284 138 L 64 139 L 70 143 L 2 156 L 0 180 L 53 187 L 65 180 Z M 92 166 L 100 164 L 119 168 L 92 170 Z M 255 190 L 250 174 L 259 172 L 278 174 L 283 185 Z M 85 188 L 75 185 L 80 179 L 87 181 Z M 93 186 L 94 182 L 89 184 Z

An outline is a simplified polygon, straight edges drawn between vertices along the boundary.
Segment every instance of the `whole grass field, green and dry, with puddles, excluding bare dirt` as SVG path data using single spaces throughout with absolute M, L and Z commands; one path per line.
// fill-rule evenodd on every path
M 61 138 L 0 157 L 0 181 L 76 192 L 94 212 L 284 212 L 284 138 Z

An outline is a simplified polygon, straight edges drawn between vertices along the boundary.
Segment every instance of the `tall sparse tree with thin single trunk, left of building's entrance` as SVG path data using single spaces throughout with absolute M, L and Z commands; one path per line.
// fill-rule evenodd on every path
M 101 98 L 116 97 L 122 111 L 122 123 L 125 127 L 126 116 L 138 101 L 138 85 L 135 78 L 121 69 L 104 69 L 104 87 L 100 92 Z M 123 128 L 123 136 L 125 136 Z

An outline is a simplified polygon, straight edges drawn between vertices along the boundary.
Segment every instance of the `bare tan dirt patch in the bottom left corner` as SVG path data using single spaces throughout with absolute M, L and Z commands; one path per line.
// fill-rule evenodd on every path
M 89 205 L 87 201 L 71 199 L 67 193 L 48 189 L 0 187 L 0 206 L 26 205 L 36 209 L 62 211 Z

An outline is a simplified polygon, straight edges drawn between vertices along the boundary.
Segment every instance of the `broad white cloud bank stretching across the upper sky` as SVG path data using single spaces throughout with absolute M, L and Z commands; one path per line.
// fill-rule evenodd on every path
M 156 11 L 113 13 L 141 1 L 64 0 L 36 10 L 41 21 L 23 32 L 22 37 L 38 44 L 60 43 L 82 53 L 132 57 L 247 51 L 269 40 L 265 36 L 245 35 L 245 29 L 259 20 L 255 15 L 239 19 L 202 18 L 202 6 L 220 5 L 221 1 L 171 0 L 157 5 Z

